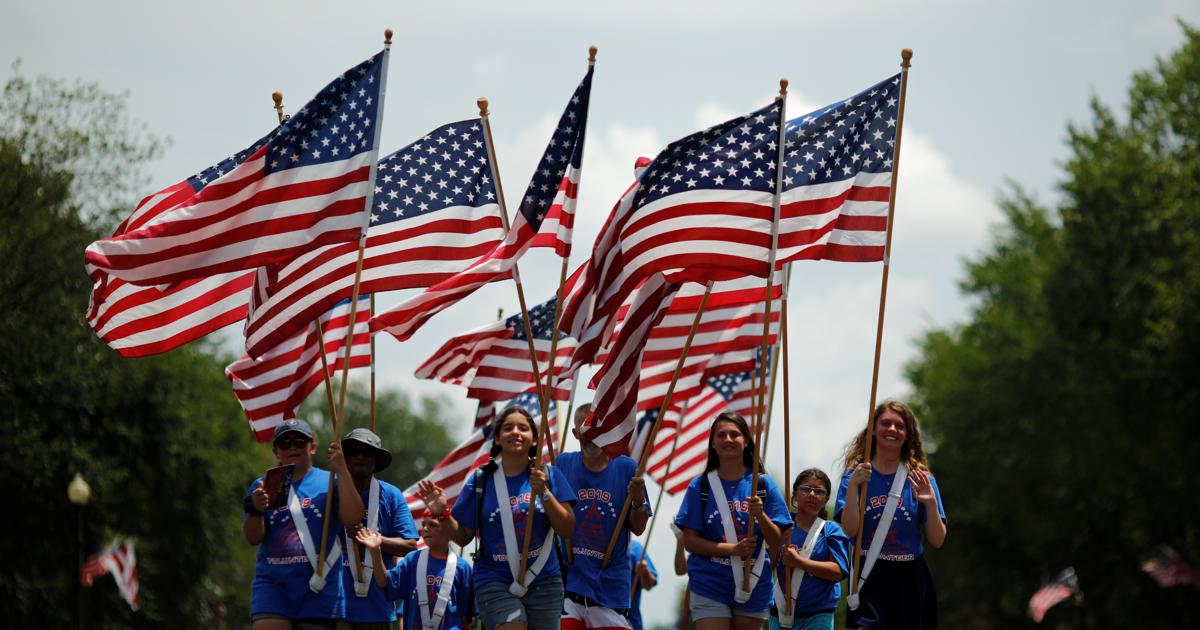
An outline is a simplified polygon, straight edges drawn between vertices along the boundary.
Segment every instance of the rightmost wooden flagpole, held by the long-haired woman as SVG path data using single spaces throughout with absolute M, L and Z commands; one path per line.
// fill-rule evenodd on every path
M 875 326 L 875 365 L 871 368 L 871 404 L 866 409 L 866 442 L 863 446 L 863 462 L 870 463 L 875 431 L 875 397 L 880 385 L 880 353 L 883 348 L 883 312 L 888 304 L 888 270 L 892 266 L 892 232 L 895 227 L 896 184 L 900 180 L 900 139 L 904 133 L 904 102 L 908 91 L 908 67 L 912 65 L 912 48 L 900 50 L 900 103 L 896 112 L 896 146 L 892 155 L 892 190 L 888 192 L 888 233 L 883 242 L 883 277 L 880 281 L 880 317 Z M 866 514 L 866 486 L 858 490 L 858 535 L 854 536 L 854 556 L 850 563 L 850 594 L 858 595 L 858 559 L 863 554 L 863 517 Z

